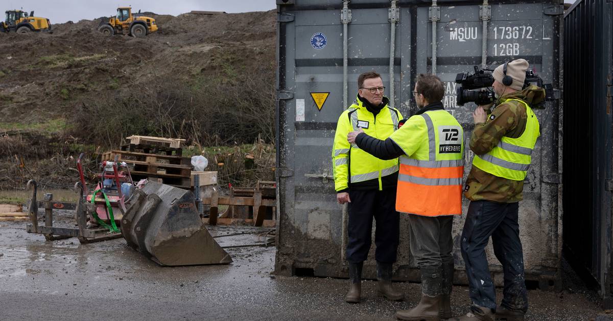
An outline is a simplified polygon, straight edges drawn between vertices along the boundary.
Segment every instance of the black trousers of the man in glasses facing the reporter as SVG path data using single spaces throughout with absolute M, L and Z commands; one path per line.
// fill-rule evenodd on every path
M 375 259 L 381 263 L 396 262 L 400 238 L 400 216 L 396 212 L 396 189 L 383 191 L 349 191 L 347 224 L 347 261 L 364 262 L 370 250 L 373 217 L 375 218 Z

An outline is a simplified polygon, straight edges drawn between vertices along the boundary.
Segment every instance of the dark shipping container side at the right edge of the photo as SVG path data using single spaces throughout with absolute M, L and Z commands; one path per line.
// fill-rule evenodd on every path
M 612 309 L 613 2 L 575 2 L 564 38 L 564 254 Z

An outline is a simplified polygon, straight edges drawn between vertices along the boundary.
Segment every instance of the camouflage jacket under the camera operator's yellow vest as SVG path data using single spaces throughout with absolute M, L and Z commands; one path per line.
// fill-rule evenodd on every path
M 530 86 L 520 92 L 506 94 L 500 101 L 507 99 L 520 99 L 533 106 L 545 99 L 545 90 Z M 503 136 L 518 138 L 526 128 L 526 108 L 518 101 L 504 101 L 487 112 L 489 117 L 484 123 L 474 125 L 473 135 L 470 138 L 470 150 L 475 155 L 483 155 L 498 144 Z M 482 171 L 473 166 L 466 179 L 464 196 L 471 201 L 485 199 L 499 203 L 519 202 L 523 199 L 523 180 L 509 180 Z

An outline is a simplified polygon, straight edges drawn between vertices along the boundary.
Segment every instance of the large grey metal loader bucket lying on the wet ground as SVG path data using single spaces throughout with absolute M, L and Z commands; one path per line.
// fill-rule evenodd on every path
M 128 201 L 121 232 L 128 245 L 159 265 L 229 264 L 208 233 L 191 191 L 147 182 Z

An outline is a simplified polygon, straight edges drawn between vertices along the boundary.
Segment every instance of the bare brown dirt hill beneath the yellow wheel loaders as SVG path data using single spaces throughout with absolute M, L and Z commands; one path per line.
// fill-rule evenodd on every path
M 7 123 L 23 125 L 60 119 L 66 121 L 69 131 L 73 129 L 72 135 L 95 142 L 101 128 L 83 128 L 91 117 L 105 113 L 127 114 L 128 119 L 142 117 L 151 113 L 147 108 L 152 105 L 167 111 L 181 109 L 178 114 L 166 116 L 185 117 L 183 113 L 193 112 L 196 104 L 209 113 L 208 118 L 227 118 L 224 109 L 245 99 L 257 105 L 251 112 L 265 109 L 264 114 L 272 116 L 274 10 L 150 15 L 156 19 L 159 31 L 141 39 L 104 37 L 96 31 L 99 20 L 54 24 L 53 34 L 0 34 L 0 131 L 12 129 Z M 254 84 L 244 86 L 245 82 Z M 253 97 L 254 94 L 262 97 Z M 183 110 L 186 108 L 189 111 Z M 223 121 L 240 121 L 240 117 L 230 118 Z M 153 123 L 156 121 L 161 119 Z M 174 122 L 136 127 L 125 122 L 109 125 L 121 127 L 113 131 L 124 131 L 122 128 L 128 126 L 126 133 L 185 136 L 186 131 Z M 79 135 L 84 129 L 94 133 Z M 220 142 L 233 139 L 220 127 L 192 126 L 190 130 L 206 131 L 207 137 L 213 131 Z M 254 135 L 248 136 L 253 139 Z M 113 144 L 110 139 L 105 142 Z

